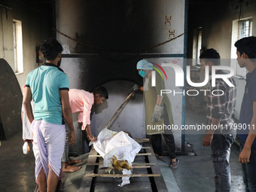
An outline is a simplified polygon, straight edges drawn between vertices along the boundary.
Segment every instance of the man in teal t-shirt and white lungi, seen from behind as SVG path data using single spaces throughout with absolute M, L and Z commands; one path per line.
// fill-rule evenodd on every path
M 62 45 L 48 39 L 41 44 L 46 63 L 29 73 L 23 105 L 32 123 L 35 179 L 39 191 L 55 191 L 61 169 L 61 157 L 69 125 L 69 144 L 75 142 L 72 110 L 69 105 L 69 78 L 59 68 Z M 35 103 L 32 114 L 31 99 Z

